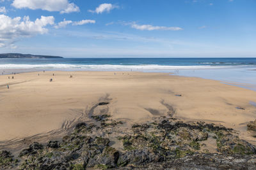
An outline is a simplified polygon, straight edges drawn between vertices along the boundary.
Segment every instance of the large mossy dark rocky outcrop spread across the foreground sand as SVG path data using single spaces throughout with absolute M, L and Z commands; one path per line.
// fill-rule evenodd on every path
M 147 124 L 120 130 L 124 122 L 110 115 L 94 115 L 80 123 L 62 141 L 32 143 L 15 162 L 0 152 L 0 167 L 15 169 L 255 169 L 255 146 L 239 139 L 232 129 L 175 118 L 157 117 Z M 202 150 L 214 135 L 219 153 Z M 115 139 L 114 139 L 115 138 Z M 118 148 L 113 145 L 120 143 Z M 19 165 L 18 165 L 19 164 Z

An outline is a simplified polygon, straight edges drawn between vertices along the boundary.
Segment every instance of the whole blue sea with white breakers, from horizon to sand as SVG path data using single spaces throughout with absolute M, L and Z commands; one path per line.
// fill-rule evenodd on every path
M 2 74 L 26 71 L 144 71 L 220 80 L 256 90 L 256 58 L 0 59 Z

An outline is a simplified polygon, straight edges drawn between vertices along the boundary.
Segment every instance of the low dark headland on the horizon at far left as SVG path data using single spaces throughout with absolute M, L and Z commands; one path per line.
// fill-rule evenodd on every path
M 22 54 L 22 53 L 0 53 L 0 59 L 56 59 L 63 58 L 59 56 L 51 55 L 33 55 L 33 54 Z

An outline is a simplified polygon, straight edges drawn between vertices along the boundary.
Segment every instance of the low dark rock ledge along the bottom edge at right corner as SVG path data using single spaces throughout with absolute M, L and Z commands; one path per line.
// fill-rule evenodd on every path
M 255 155 L 227 157 L 221 154 L 195 154 L 180 159 L 168 160 L 166 162 L 152 162 L 136 169 L 255 169 Z

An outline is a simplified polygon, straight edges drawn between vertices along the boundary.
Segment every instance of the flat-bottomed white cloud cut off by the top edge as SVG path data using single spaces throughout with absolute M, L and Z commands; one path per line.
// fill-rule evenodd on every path
M 68 0 L 14 0 L 15 8 L 29 8 L 31 10 L 60 11 L 60 13 L 78 12 L 79 7 Z

